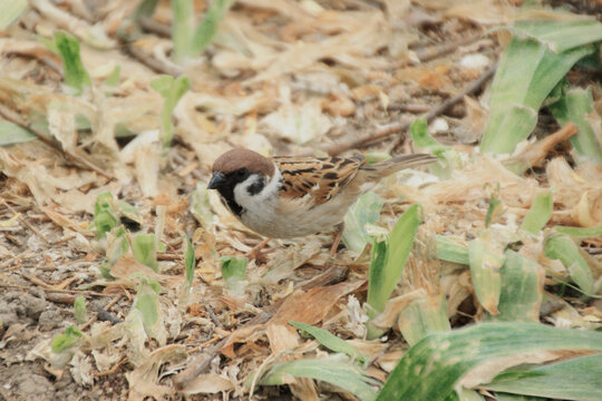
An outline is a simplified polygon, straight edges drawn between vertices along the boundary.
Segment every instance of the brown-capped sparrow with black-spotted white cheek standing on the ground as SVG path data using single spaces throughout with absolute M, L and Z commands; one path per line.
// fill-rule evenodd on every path
M 234 148 L 213 164 L 207 185 L 246 227 L 270 238 L 333 231 L 349 206 L 381 178 L 436 162 L 427 154 L 366 164 L 363 156 L 264 157 Z

